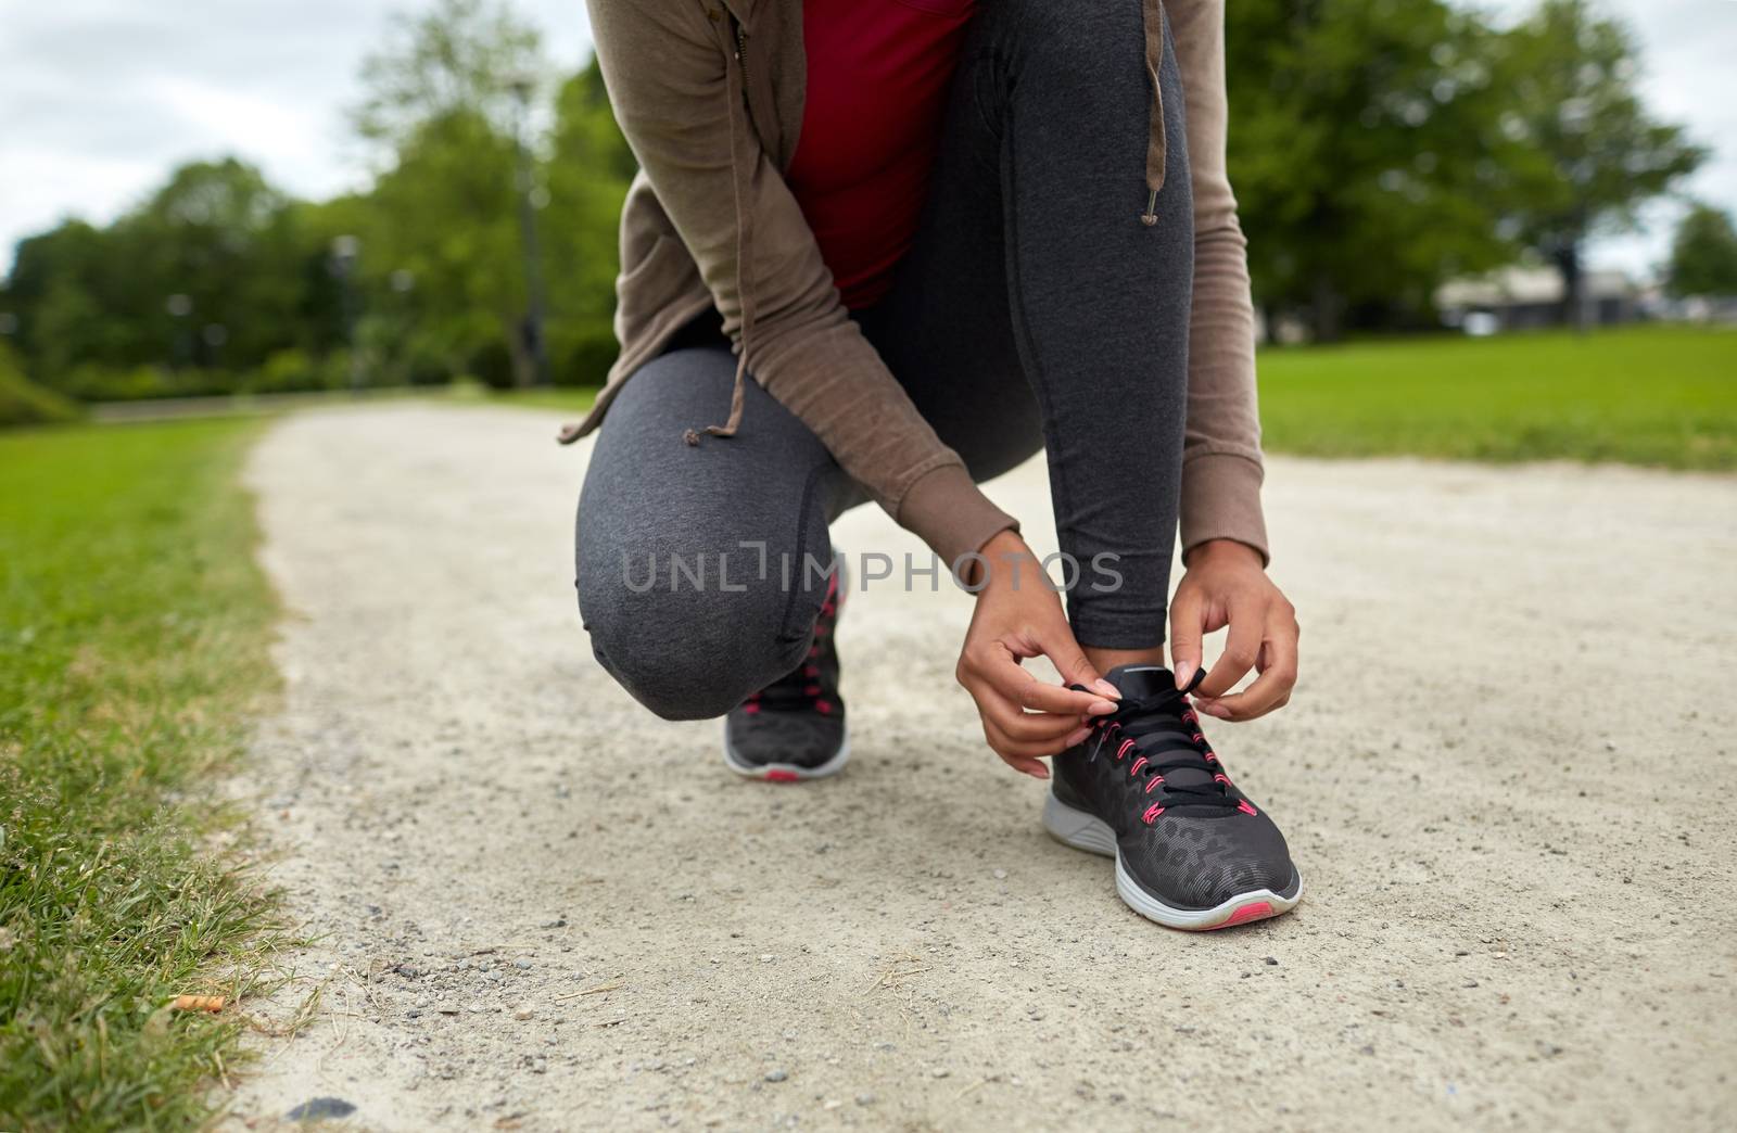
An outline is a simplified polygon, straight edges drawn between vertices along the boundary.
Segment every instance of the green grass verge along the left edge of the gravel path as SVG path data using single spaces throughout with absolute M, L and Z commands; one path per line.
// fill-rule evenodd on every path
M 281 942 L 214 779 L 274 688 L 247 421 L 0 436 L 0 1130 L 188 1128 Z

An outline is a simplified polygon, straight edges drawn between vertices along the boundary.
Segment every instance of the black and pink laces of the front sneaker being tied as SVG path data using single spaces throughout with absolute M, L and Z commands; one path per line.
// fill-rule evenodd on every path
M 1230 796 L 1230 779 L 1212 754 L 1212 745 L 1200 733 L 1200 716 L 1188 702 L 1188 693 L 1200 686 L 1205 671 L 1199 669 L 1188 688 L 1166 688 L 1139 700 L 1122 699 L 1115 711 L 1093 721 L 1093 740 L 1087 759 L 1108 752 L 1120 763 L 1131 759 L 1127 773 L 1146 775 L 1143 794 L 1159 791 L 1159 798 L 1145 810 L 1141 820 L 1152 825 L 1172 806 L 1202 806 L 1211 810 L 1240 810 L 1258 813 L 1247 799 Z M 1070 685 L 1091 692 L 1084 685 Z M 1200 772 L 1211 779 L 1197 784 L 1176 784 L 1164 777 L 1171 772 Z

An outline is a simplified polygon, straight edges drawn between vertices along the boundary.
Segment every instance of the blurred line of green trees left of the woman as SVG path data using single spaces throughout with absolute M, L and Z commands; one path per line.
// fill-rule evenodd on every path
M 535 31 L 504 5 L 443 0 L 403 19 L 361 71 L 367 191 L 297 202 L 234 160 L 186 165 L 108 228 L 24 240 L 0 335 L 36 381 L 97 400 L 335 388 L 353 372 L 509 384 L 526 374 L 525 127 L 554 377 L 599 382 L 634 160 L 596 66 L 558 89 L 544 70 Z

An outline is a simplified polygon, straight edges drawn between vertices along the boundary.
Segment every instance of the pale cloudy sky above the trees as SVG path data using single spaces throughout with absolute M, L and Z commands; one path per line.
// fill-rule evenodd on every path
M 1061 0 L 1058 0 L 1061 2 Z M 1690 189 L 1737 209 L 1737 0 L 1603 0 L 1640 33 L 1654 108 L 1714 146 Z M 552 61 L 589 52 L 584 0 L 514 0 Z M 1522 12 L 1530 0 L 1483 0 Z M 344 111 L 394 12 L 426 0 L 0 0 L 0 268 L 64 215 L 108 221 L 191 158 L 240 155 L 278 186 L 325 196 L 367 177 Z M 1643 269 L 1652 231 L 1596 259 Z

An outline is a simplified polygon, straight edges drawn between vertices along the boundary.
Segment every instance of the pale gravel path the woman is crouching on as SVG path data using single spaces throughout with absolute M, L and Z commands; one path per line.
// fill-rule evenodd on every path
M 252 785 L 321 935 L 262 1013 L 321 997 L 238 1119 L 1728 1128 L 1737 480 L 1275 459 L 1303 685 L 1214 739 L 1308 890 L 1192 937 L 981 745 L 959 594 L 853 594 L 835 780 L 643 714 L 578 629 L 551 431 L 365 407 L 254 454 L 292 615 Z M 1040 466 L 990 494 L 1053 546 Z

